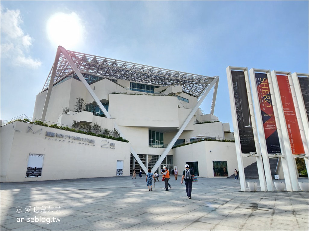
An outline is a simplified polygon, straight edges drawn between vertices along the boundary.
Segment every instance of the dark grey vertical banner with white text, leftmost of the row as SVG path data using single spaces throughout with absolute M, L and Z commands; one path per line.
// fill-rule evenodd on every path
M 231 77 L 241 153 L 256 152 L 244 72 L 231 70 Z

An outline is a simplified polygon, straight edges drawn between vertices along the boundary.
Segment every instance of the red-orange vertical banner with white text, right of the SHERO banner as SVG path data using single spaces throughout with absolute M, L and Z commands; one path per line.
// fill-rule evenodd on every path
M 298 121 L 296 117 L 295 107 L 293 103 L 289 78 L 287 75 L 276 75 L 278 88 L 280 91 L 281 102 L 286 120 L 286 127 L 289 134 L 292 154 L 303 154 L 303 141 L 299 132 Z

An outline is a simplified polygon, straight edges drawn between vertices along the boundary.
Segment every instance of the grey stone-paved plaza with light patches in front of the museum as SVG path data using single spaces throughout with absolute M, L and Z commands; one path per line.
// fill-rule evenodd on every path
M 1 230 L 308 230 L 308 191 L 242 192 L 234 179 L 199 178 L 189 200 L 180 179 L 148 191 L 145 176 L 131 178 L 1 183 Z

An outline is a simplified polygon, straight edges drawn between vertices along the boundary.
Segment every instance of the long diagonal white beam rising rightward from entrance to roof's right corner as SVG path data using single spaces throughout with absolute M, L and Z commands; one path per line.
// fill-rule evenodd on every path
M 210 92 L 211 88 L 214 86 L 214 84 L 218 81 L 219 76 L 216 76 L 213 81 L 211 82 L 211 84 L 208 86 L 207 90 L 204 92 L 204 94 L 202 95 L 202 97 L 200 98 L 200 100 L 197 102 L 197 104 L 195 105 L 195 107 L 192 109 L 192 111 L 189 113 L 188 117 L 184 120 L 184 123 L 180 126 L 178 132 L 176 133 L 176 135 L 174 136 L 174 138 L 171 140 L 171 142 L 167 145 L 166 149 L 163 151 L 162 155 L 160 156 L 160 158 L 158 159 L 158 161 L 155 163 L 155 165 L 152 168 L 152 172 L 154 172 L 156 169 L 158 169 L 159 165 L 161 164 L 161 162 L 164 160 L 164 158 L 167 156 L 167 153 L 171 150 L 171 148 L 173 147 L 173 145 L 175 144 L 175 142 L 177 141 L 177 139 L 179 138 L 179 136 L 181 135 L 181 133 L 184 131 L 184 128 L 188 125 L 188 123 L 190 122 L 190 120 L 192 119 L 193 115 L 195 114 L 195 112 L 197 111 L 197 109 L 200 107 L 201 103 L 203 102 L 203 100 L 205 99 L 205 97 L 207 96 L 207 94 Z

